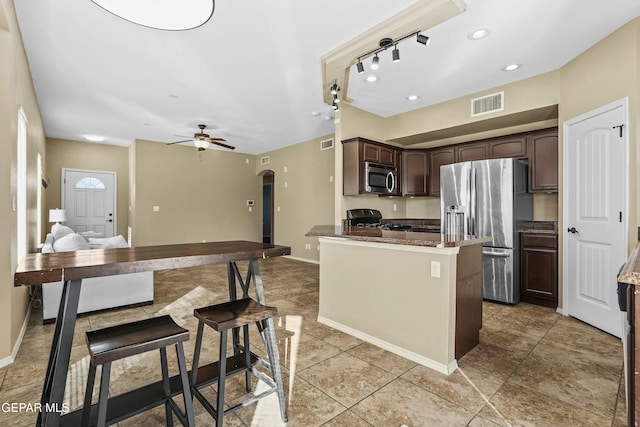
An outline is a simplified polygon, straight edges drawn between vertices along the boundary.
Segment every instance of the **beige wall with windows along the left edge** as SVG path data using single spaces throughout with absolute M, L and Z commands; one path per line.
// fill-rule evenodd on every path
M 29 251 L 35 252 L 37 236 L 36 159 L 45 156 L 44 129 L 31 83 L 22 37 L 11 0 L 0 0 L 0 365 L 10 363 L 17 351 L 28 310 L 28 289 L 13 287 L 13 274 L 19 260 L 16 253 L 16 213 L 12 209 L 16 196 L 16 129 L 18 108 L 27 116 L 27 209 Z M 42 218 L 42 216 L 40 216 Z M 13 354 L 12 354 L 13 353 Z

